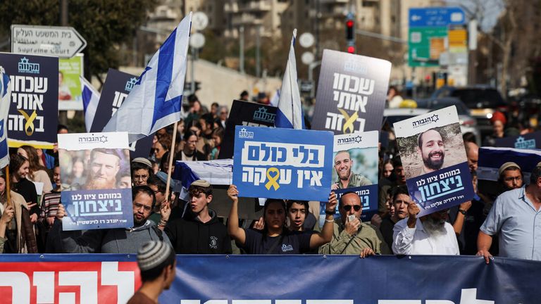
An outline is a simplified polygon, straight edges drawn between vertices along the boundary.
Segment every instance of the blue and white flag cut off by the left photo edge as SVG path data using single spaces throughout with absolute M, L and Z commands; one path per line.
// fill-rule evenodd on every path
M 4 68 L 0 66 L 0 168 L 9 165 L 8 126 L 6 122 L 8 120 L 10 96 L 9 76 L 6 75 Z

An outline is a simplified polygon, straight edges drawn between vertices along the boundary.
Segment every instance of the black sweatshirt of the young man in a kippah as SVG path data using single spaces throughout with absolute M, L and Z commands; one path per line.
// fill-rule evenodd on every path
M 218 221 L 216 213 L 209 210 L 211 220 L 203 223 L 187 213 L 185 217 L 169 222 L 165 232 L 177 254 L 225 254 L 231 253 L 228 229 Z

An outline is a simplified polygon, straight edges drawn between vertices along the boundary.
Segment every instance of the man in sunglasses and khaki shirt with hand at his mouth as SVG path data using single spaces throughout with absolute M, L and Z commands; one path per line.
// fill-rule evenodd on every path
M 331 192 L 331 196 L 336 196 Z M 360 255 L 365 258 L 374 254 L 390 254 L 383 236 L 373 225 L 360 220 L 363 208 L 361 198 L 355 192 L 342 194 L 338 201 L 340 218 L 335 220 L 330 243 L 319 248 L 320 254 Z

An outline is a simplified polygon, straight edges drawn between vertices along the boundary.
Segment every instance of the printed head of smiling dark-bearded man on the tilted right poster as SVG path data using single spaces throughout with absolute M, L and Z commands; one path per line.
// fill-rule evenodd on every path
M 440 132 L 429 129 L 419 134 L 417 151 L 423 159 L 423 172 L 421 175 L 440 170 L 443 167 L 445 147 Z

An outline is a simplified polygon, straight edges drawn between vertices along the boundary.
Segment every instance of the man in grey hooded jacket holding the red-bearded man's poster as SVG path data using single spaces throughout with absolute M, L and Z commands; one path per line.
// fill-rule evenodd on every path
M 134 186 L 133 224 L 131 228 L 94 229 L 81 231 L 62 230 L 61 219 L 66 215 L 62 204 L 58 205 L 53 230 L 61 238 L 63 253 L 137 253 L 137 250 L 148 241 L 163 241 L 170 245 L 166 234 L 148 220 L 156 205 L 156 196 L 149 186 Z M 168 218 L 170 209 L 162 210 L 163 217 Z

